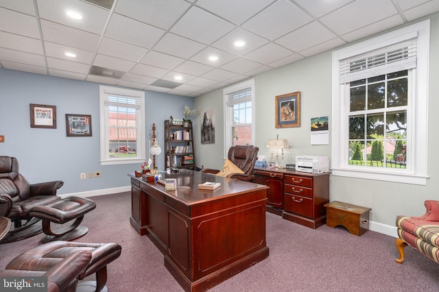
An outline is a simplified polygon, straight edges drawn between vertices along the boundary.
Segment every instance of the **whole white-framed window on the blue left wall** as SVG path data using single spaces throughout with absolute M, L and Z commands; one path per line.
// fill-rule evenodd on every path
M 99 86 L 101 164 L 145 160 L 145 93 Z

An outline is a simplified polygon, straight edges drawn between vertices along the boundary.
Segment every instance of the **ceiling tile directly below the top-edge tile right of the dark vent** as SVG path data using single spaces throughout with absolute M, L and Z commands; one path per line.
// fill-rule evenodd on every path
M 153 27 L 129 19 L 119 14 L 113 14 L 105 31 L 105 36 L 115 38 L 132 45 L 150 49 L 165 34 L 163 29 Z

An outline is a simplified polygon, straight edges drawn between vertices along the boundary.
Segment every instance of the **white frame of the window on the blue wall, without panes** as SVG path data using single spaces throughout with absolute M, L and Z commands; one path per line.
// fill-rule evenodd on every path
M 108 137 L 108 116 L 105 106 L 105 95 L 121 95 L 139 99 L 140 109 L 136 114 L 137 148 L 135 158 L 110 158 Z M 113 86 L 99 85 L 99 130 L 100 130 L 100 154 L 101 165 L 128 165 L 145 161 L 145 92 Z

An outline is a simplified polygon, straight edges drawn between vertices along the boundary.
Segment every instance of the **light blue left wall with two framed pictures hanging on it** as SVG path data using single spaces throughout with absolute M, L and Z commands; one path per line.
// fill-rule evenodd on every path
M 57 128 L 30 127 L 29 104 L 56 106 Z M 164 149 L 163 121 L 182 118 L 192 97 L 145 91 L 146 136 L 156 123 L 158 145 Z M 91 114 L 93 136 L 67 137 L 65 114 Z M 31 183 L 62 180 L 58 194 L 129 186 L 127 173 L 140 165 L 99 163 L 99 84 L 0 69 L 0 155 L 18 158 L 20 172 Z M 163 154 L 156 158 L 163 169 Z M 101 171 L 101 178 L 80 179 L 80 173 Z

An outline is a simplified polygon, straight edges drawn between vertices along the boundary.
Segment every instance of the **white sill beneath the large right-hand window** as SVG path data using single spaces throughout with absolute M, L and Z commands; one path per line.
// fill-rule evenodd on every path
M 357 169 L 331 169 L 332 175 L 347 178 L 362 178 L 365 180 L 381 180 L 384 182 L 399 182 L 402 184 L 419 184 L 425 186 L 428 176 L 401 174 L 401 173 L 377 173 L 377 171 L 359 171 Z

